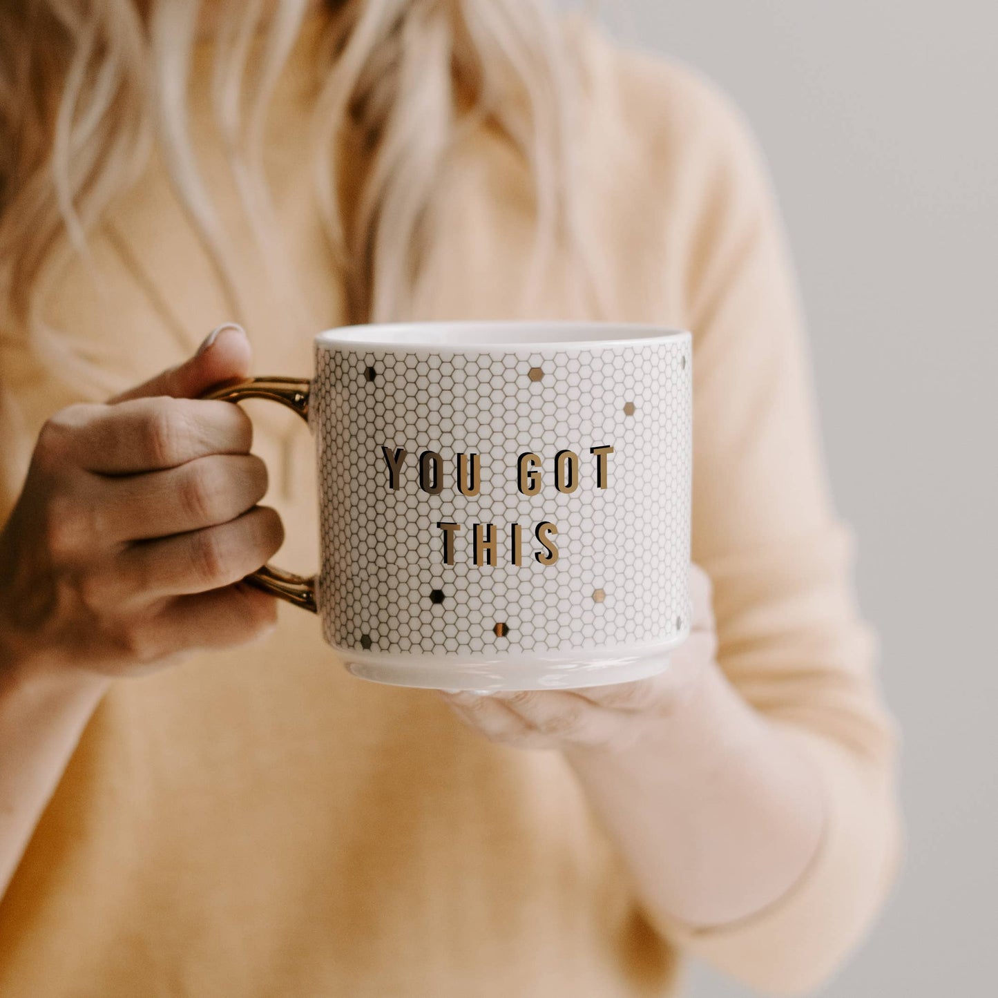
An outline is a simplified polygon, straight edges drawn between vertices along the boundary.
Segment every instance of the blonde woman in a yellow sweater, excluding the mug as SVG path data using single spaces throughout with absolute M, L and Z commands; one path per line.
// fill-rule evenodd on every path
M 893 739 L 737 112 L 527 0 L 0 18 L 0 993 L 814 987 L 895 865 Z M 352 679 L 240 582 L 314 560 L 306 434 L 258 414 L 260 506 L 197 396 L 537 316 L 694 331 L 693 637 L 596 691 Z

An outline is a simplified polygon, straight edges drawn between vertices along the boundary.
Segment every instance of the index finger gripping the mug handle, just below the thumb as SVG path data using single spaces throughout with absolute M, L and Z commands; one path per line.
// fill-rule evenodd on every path
M 75 460 L 101 474 L 157 471 L 252 446 L 250 417 L 232 402 L 140 398 L 74 406 L 59 420 L 72 435 Z

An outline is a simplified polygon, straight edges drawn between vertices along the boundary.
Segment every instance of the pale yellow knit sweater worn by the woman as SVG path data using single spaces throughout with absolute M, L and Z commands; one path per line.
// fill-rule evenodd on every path
M 830 503 L 801 322 L 764 167 L 710 83 L 585 32 L 578 137 L 613 317 L 693 330 L 694 557 L 712 576 L 720 662 L 826 781 L 820 853 L 780 902 L 692 932 L 642 910 L 557 752 L 499 747 L 432 692 L 351 678 L 316 622 L 281 608 L 249 651 L 119 682 L 87 728 L 0 905 L 0 994 L 635 998 L 677 986 L 696 953 L 762 989 L 820 972 L 880 902 L 897 851 L 893 736 L 873 642 Z M 237 234 L 260 373 L 310 371 L 254 255 L 211 126 L 199 52 L 193 129 Z M 319 328 L 343 314 L 310 195 L 307 56 L 281 81 L 267 168 L 288 259 Z M 512 302 L 530 234 L 528 178 L 469 137 L 415 317 L 536 317 Z M 94 241 L 51 321 L 139 380 L 229 318 L 204 250 L 154 163 Z M 552 279 L 545 316 L 571 317 Z M 164 304 L 165 303 L 165 304 Z M 72 400 L 23 346 L 0 353 L 0 453 Z M 258 415 L 278 562 L 315 567 L 311 443 Z M 12 495 L 3 500 L 9 508 Z M 3 512 L 0 510 L 0 513 Z

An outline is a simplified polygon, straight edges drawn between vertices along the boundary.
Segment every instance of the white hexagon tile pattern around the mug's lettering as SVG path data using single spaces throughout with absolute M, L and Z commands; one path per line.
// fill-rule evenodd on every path
M 315 352 L 318 592 L 330 644 L 354 656 L 531 653 L 661 642 L 688 625 L 689 336 L 477 353 L 317 343 Z M 589 448 L 606 444 L 614 453 L 601 489 Z M 408 451 L 397 491 L 382 446 Z M 562 449 L 580 459 L 569 493 L 555 488 Z M 419 488 L 424 450 L 443 457 L 439 495 Z M 541 458 L 536 495 L 518 489 L 526 451 Z M 476 496 L 457 488 L 460 452 L 481 455 Z M 558 527 L 552 565 L 533 557 L 544 520 Z M 444 564 L 440 521 L 461 525 L 454 565 Z M 475 523 L 495 525 L 498 564 L 474 564 Z M 510 560 L 513 523 L 523 527 L 521 566 Z

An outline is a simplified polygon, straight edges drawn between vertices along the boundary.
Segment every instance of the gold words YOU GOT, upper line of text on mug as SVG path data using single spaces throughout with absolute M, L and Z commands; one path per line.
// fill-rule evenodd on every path
M 610 455 L 614 448 L 609 444 L 590 447 L 589 453 L 596 458 L 596 486 L 608 487 Z M 402 469 L 409 452 L 404 447 L 381 447 L 385 464 L 388 466 L 388 485 L 393 490 L 402 487 Z M 555 488 L 559 492 L 574 492 L 579 487 L 581 459 L 574 450 L 560 450 L 555 454 Z M 541 491 L 541 458 L 533 451 L 525 451 L 516 461 L 516 485 L 525 496 L 537 495 Z M 454 468 L 457 490 L 463 496 L 476 496 L 482 487 L 482 461 L 480 454 L 456 455 Z M 444 485 L 443 455 L 435 450 L 424 450 L 419 455 L 419 487 L 431 496 L 439 495 Z

